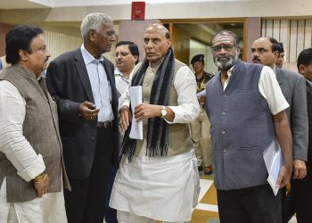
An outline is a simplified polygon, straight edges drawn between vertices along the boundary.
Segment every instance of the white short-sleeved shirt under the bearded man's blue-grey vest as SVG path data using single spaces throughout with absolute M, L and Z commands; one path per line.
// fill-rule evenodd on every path
M 224 91 L 232 76 L 233 68 L 234 66 L 230 70 L 227 70 L 228 78 L 223 86 Z M 287 103 L 281 87 L 277 82 L 275 72 L 270 67 L 264 66 L 261 70 L 259 77 L 259 92 L 264 98 L 266 98 L 268 107 L 273 115 L 289 107 L 289 103 Z

